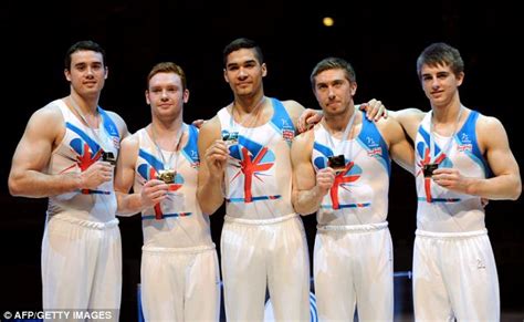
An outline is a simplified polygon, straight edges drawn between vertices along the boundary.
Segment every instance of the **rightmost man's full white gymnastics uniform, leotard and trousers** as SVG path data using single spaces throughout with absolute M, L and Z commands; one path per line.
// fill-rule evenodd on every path
M 489 167 L 475 135 L 472 111 L 452 137 L 432 134 L 428 113 L 416 138 L 417 232 L 413 249 L 413 301 L 417 321 L 499 321 L 495 260 L 481 198 L 454 193 L 425 178 L 423 166 L 458 168 L 485 178 Z M 431 155 L 432 154 L 432 155 Z

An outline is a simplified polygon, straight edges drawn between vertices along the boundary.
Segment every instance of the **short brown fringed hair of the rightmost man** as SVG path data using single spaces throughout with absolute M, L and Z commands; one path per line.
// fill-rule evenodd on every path
M 433 67 L 447 65 L 455 75 L 464 71 L 464 61 L 460 56 L 459 50 L 443 42 L 428 45 L 419 55 L 417 59 L 417 74 L 419 77 L 423 65 Z

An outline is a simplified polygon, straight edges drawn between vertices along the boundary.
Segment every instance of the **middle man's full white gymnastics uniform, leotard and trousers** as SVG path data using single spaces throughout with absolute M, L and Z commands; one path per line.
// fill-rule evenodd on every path
M 290 145 L 295 128 L 270 98 L 264 125 L 237 124 L 219 111 L 222 134 L 238 132 L 226 170 L 221 257 L 228 321 L 262 321 L 268 287 L 276 321 L 310 321 L 310 259 L 302 219 L 291 202 Z

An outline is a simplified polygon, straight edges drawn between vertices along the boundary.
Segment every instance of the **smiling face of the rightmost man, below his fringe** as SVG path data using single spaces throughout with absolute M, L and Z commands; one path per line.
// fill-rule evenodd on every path
M 423 64 L 420 69 L 422 90 L 434 107 L 449 106 L 458 100 L 463 79 L 463 72 L 455 74 L 448 64 Z

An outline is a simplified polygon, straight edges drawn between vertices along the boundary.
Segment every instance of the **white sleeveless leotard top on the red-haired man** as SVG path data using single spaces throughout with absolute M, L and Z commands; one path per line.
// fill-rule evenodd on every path
M 191 128 L 185 126 L 186 128 Z M 197 201 L 198 180 L 198 148 L 197 132 L 187 131 L 188 142 L 179 152 L 176 165 L 164 165 L 177 172 L 175 183 L 169 185 L 169 198 L 161 202 L 164 215 L 179 214 L 177 217 L 166 217 L 160 220 L 150 218 L 155 209 L 149 207 L 143 211 L 144 245 L 148 247 L 192 248 L 197 246 L 211 246 L 211 231 L 209 216 L 202 215 Z M 189 134 L 191 133 L 191 134 Z M 135 166 L 134 190 L 139 193 L 144 184 L 160 170 L 163 164 L 153 139 L 145 128 L 134 134 L 139 142 L 139 155 Z M 175 158 L 174 158 L 175 159 Z M 146 219 L 145 216 L 149 216 Z

